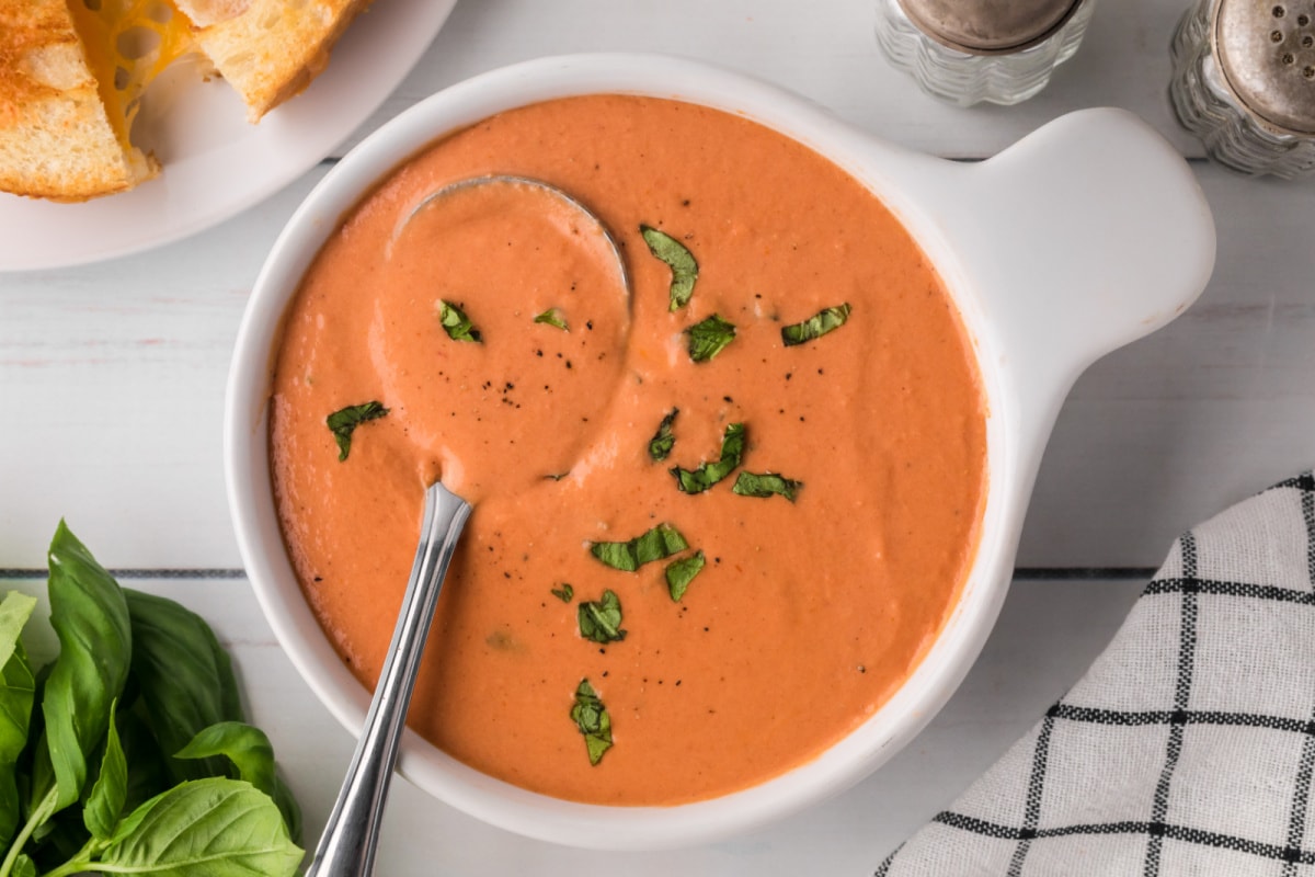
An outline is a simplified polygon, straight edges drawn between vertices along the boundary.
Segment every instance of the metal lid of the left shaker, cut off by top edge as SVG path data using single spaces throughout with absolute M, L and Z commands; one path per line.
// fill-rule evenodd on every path
M 899 0 L 905 14 L 923 33 L 970 55 L 1027 49 L 1051 36 L 1081 3 L 1082 0 Z

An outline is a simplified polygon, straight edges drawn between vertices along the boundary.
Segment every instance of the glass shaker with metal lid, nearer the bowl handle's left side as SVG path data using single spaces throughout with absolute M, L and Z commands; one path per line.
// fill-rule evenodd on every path
M 877 43 L 936 97 L 1016 104 L 1073 57 L 1094 0 L 877 0 Z

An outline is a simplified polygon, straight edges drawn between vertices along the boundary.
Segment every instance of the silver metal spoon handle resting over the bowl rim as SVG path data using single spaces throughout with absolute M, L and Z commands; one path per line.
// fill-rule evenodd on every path
M 366 877 L 373 869 L 384 798 L 397 763 L 397 744 L 406 726 L 416 672 L 443 576 L 469 515 L 469 504 L 442 484 L 435 483 L 425 492 L 425 522 L 388 659 L 347 777 L 305 877 Z

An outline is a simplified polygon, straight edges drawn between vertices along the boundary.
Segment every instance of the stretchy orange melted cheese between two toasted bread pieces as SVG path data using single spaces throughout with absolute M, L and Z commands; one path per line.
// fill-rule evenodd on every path
M 192 29 L 163 0 L 70 0 L 68 8 L 114 134 L 128 150 L 142 93 L 193 50 Z

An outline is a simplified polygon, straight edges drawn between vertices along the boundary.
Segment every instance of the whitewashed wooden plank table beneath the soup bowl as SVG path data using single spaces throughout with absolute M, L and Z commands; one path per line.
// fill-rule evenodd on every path
M 731 843 L 635 855 L 523 840 L 400 781 L 379 873 L 871 873 L 1081 675 L 1178 533 L 1315 463 L 1315 187 L 1233 175 L 1203 160 L 1199 143 L 1180 130 L 1165 89 L 1168 42 L 1184 5 L 1101 0 L 1081 51 L 1047 91 L 1014 108 L 963 110 L 923 96 L 886 66 L 871 0 L 459 3 L 419 66 L 351 142 L 473 74 L 589 50 L 715 60 L 802 92 L 890 141 L 953 158 L 992 155 L 1070 109 L 1118 105 L 1191 160 L 1215 210 L 1219 262 L 1191 310 L 1107 356 L 1074 388 L 1041 465 L 995 634 L 948 707 L 876 776 Z M 4 586 L 43 589 L 45 546 L 67 517 L 124 584 L 209 618 L 302 802 L 312 843 L 352 740 L 293 672 L 243 577 L 220 426 L 250 284 L 329 162 L 180 243 L 0 275 Z

